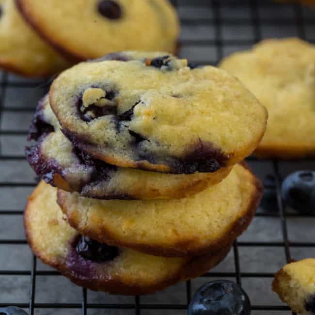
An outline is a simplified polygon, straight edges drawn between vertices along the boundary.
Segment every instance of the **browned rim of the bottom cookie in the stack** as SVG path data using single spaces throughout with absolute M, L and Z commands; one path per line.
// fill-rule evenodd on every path
M 41 186 L 47 185 L 41 182 L 37 188 L 33 191 L 29 197 L 28 203 L 25 208 L 24 214 L 24 228 L 27 241 L 31 247 L 31 251 L 38 257 L 43 263 L 49 265 L 52 268 L 57 269 L 63 276 L 68 278 L 74 284 L 79 286 L 94 290 L 94 291 L 105 291 L 110 294 L 122 294 L 122 295 L 146 295 L 153 294 L 158 290 L 163 290 L 164 288 L 176 284 L 180 281 L 185 281 L 198 276 L 201 276 L 209 269 L 217 266 L 230 251 L 231 245 L 221 248 L 218 252 L 207 253 L 202 256 L 189 257 L 187 262 L 178 270 L 176 274 L 173 274 L 163 281 L 157 282 L 156 284 L 151 284 L 147 286 L 141 285 L 129 285 L 123 282 L 118 277 L 103 277 L 98 279 L 87 279 L 85 277 L 76 276 L 71 270 L 66 266 L 62 259 L 51 260 L 47 254 L 41 252 L 31 236 L 31 224 L 30 224 L 30 213 L 32 207 L 32 201 L 37 198 L 41 193 Z

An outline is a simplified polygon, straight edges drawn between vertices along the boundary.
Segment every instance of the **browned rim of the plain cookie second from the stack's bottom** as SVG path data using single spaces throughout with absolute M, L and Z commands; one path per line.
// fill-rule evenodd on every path
M 236 237 L 240 236 L 250 225 L 252 219 L 256 213 L 256 209 L 260 203 L 261 197 L 263 195 L 263 186 L 258 178 L 253 175 L 250 167 L 245 163 L 241 163 L 242 167 L 245 169 L 244 173 L 241 175 L 241 180 L 250 181 L 252 184 L 252 193 L 248 200 L 245 201 L 246 211 L 245 215 L 240 217 L 235 221 L 229 228 L 227 228 L 226 233 L 223 237 L 207 244 L 207 246 L 200 247 L 192 245 L 191 241 L 176 243 L 172 248 L 163 246 L 149 246 L 147 244 L 134 243 L 130 241 L 122 241 L 118 237 L 114 236 L 110 231 L 102 228 L 100 230 L 94 230 L 91 228 L 82 228 L 80 224 L 80 216 L 72 212 L 71 216 L 67 217 L 67 221 L 70 226 L 78 230 L 81 234 L 89 236 L 99 242 L 106 242 L 109 245 L 117 247 L 126 247 L 139 252 L 145 252 L 148 254 L 164 257 L 186 257 L 186 256 L 197 256 L 203 255 L 208 252 L 216 252 L 222 247 L 230 246 Z M 64 207 L 64 199 L 62 190 L 58 189 L 57 193 L 57 203 L 61 207 L 63 213 L 67 215 L 67 209 Z

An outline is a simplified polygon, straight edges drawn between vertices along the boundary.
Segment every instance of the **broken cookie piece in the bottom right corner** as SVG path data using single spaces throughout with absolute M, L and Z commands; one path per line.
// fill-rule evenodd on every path
M 287 264 L 275 275 L 273 291 L 287 303 L 292 312 L 315 314 L 315 259 Z

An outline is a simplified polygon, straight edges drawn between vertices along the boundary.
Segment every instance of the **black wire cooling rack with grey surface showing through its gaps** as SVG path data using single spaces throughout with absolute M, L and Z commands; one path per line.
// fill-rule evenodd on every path
M 181 54 L 189 57 L 191 62 L 197 64 L 210 63 L 215 65 L 225 55 L 251 47 L 252 44 L 265 37 L 299 36 L 315 43 L 315 10 L 312 11 L 299 4 L 280 4 L 268 0 L 173 0 L 173 4 L 178 9 L 181 17 L 183 30 L 180 39 Z M 48 279 L 49 277 L 58 277 L 60 274 L 52 269 L 38 268 L 41 263 L 30 252 L 28 256 L 25 254 L 25 251 L 29 251 L 29 249 L 23 235 L 21 221 L 26 196 L 31 193 L 36 184 L 33 179 L 34 175 L 27 166 L 23 147 L 36 102 L 40 96 L 47 92 L 48 86 L 49 82 L 22 79 L 5 72 L 1 74 L 0 307 L 16 305 L 26 310 L 29 309 L 30 315 L 80 313 L 82 315 L 153 315 L 161 312 L 165 315 L 186 314 L 187 305 L 193 291 L 196 289 L 190 281 L 186 283 L 184 290 L 178 292 L 178 294 L 175 292 L 176 297 L 179 294 L 183 295 L 179 303 L 177 303 L 178 299 L 175 299 L 176 303 L 174 303 L 172 297 L 162 303 L 156 301 L 147 303 L 144 297 L 137 296 L 132 299 L 125 297 L 115 299 L 109 296 L 107 299 L 101 298 L 90 301 L 89 297 L 93 292 L 77 287 L 71 287 L 70 290 L 62 292 L 63 299 L 61 301 L 43 302 L 46 299 L 43 298 L 41 293 L 45 290 L 43 288 L 36 290 L 39 277 L 47 277 L 45 279 Z M 199 284 L 206 282 L 208 278 L 231 278 L 238 284 L 243 285 L 247 279 L 266 278 L 268 282 L 271 282 L 275 270 L 271 272 L 270 268 L 266 266 L 262 271 L 252 270 L 252 268 L 249 271 L 250 265 L 244 263 L 243 254 L 240 254 L 244 248 L 249 250 L 247 257 L 250 258 L 251 252 L 252 256 L 257 254 L 256 249 L 263 249 L 264 256 L 268 256 L 270 252 L 275 252 L 276 249 L 276 253 L 271 256 L 270 260 L 277 260 L 278 256 L 284 254 L 284 259 L 280 259 L 279 266 L 284 265 L 286 261 L 289 262 L 291 258 L 295 258 L 291 256 L 294 249 L 304 248 L 310 252 L 315 249 L 312 236 L 306 241 L 301 236 L 303 233 L 300 233 L 306 229 L 308 221 L 312 224 L 310 231 L 313 230 L 314 221 L 312 220 L 314 216 L 313 218 L 305 215 L 300 216 L 297 213 L 288 211 L 283 204 L 280 189 L 284 174 L 303 168 L 315 169 L 315 160 L 259 161 L 252 157 L 248 160 L 260 177 L 264 177 L 267 173 L 274 176 L 278 203 L 276 208 L 278 207 L 278 209 L 258 210 L 256 218 L 266 219 L 263 221 L 266 237 L 259 239 L 245 238 L 245 240 L 240 238 L 236 241 L 232 250 L 233 270 L 231 268 L 221 268 L 220 271 L 216 271 L 217 269 L 215 269 L 199 278 Z M 291 217 L 304 218 L 304 221 L 302 220 L 304 225 L 300 225 L 293 241 L 289 240 L 287 228 L 288 218 Z M 272 225 L 275 222 L 274 220 L 276 220 L 276 228 L 271 228 L 271 226 L 274 226 Z M 295 226 L 295 223 L 293 226 Z M 256 227 L 257 225 L 254 228 L 256 229 Z M 257 228 L 257 234 L 260 232 L 261 230 Z M 277 232 L 279 232 L 280 238 L 275 237 L 273 239 L 273 235 Z M 20 260 L 22 260 L 22 263 L 16 264 L 16 261 Z M 6 280 L 6 277 L 9 277 L 9 280 Z M 23 284 L 19 283 L 21 277 L 27 278 L 27 281 Z M 63 289 L 62 287 L 48 287 L 48 283 L 49 280 L 46 283 L 45 296 Z M 15 289 L 13 289 L 14 287 Z M 264 292 L 257 289 L 259 289 L 257 285 L 248 289 L 250 295 L 256 296 L 252 303 L 252 314 L 291 314 L 289 308 L 278 299 L 273 303 L 260 302 L 264 300 L 265 294 L 268 296 L 268 292 L 271 290 L 269 285 L 264 287 Z M 67 299 L 67 294 L 72 290 L 79 295 L 76 302 Z M 40 298 L 35 299 L 35 295 L 39 295 Z M 260 296 L 257 298 L 257 295 Z M 126 313 L 124 313 L 125 311 Z

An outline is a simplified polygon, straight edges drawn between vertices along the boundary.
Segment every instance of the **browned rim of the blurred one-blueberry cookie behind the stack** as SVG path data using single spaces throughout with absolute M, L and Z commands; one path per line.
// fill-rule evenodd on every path
M 28 24 L 31 26 L 31 28 L 37 32 L 37 34 L 45 40 L 51 47 L 53 47 L 56 51 L 58 51 L 64 58 L 67 60 L 73 62 L 73 63 L 79 63 L 82 61 L 86 61 L 91 59 L 88 56 L 81 55 L 77 52 L 72 51 L 71 49 L 67 49 L 63 47 L 61 43 L 59 43 L 58 40 L 56 40 L 53 36 L 47 35 L 45 30 L 45 26 L 40 23 L 39 19 L 36 19 L 36 16 L 32 15 L 31 10 L 28 9 L 27 1 L 24 0 L 15 0 L 16 7 L 18 8 L 21 15 L 24 17 L 25 21 L 28 22 Z M 171 5 L 171 4 L 170 4 Z M 178 33 L 179 33 L 179 25 L 178 25 Z M 174 49 L 173 51 L 170 51 L 170 53 L 174 55 L 178 55 L 180 44 L 179 44 L 179 38 L 177 38 L 174 41 Z M 110 52 L 108 52 L 110 53 Z

